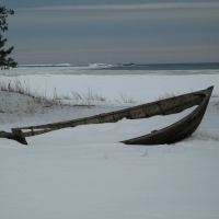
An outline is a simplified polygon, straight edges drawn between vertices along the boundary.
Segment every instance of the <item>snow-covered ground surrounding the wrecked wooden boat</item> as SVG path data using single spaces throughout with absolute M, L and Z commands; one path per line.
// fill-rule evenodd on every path
M 21 94 L 0 92 L 0 130 L 115 111 L 160 94 L 210 85 L 215 90 L 196 132 L 175 145 L 118 142 L 166 123 L 160 117 L 61 129 L 30 137 L 28 146 L 0 139 L 0 218 L 219 218 L 219 74 L 18 78 L 48 96 L 54 90 L 71 97 L 72 91 L 87 96 L 92 91 L 106 101 L 90 100 L 91 105 L 97 104 L 91 107 L 48 107 Z M 1 80 L 13 79 L 2 76 Z M 88 103 L 88 99 L 64 101 Z

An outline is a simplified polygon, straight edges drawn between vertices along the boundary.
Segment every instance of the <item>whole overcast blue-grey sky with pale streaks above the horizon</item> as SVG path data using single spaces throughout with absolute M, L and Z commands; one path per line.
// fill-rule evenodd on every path
M 1 0 L 23 64 L 218 62 L 219 0 Z

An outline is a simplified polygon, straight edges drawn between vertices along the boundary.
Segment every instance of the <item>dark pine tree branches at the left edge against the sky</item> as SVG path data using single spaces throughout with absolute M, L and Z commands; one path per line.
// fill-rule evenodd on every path
M 8 15 L 13 15 L 14 11 L 13 10 L 8 10 L 5 7 L 0 7 L 0 31 L 4 32 L 8 31 L 8 23 L 7 23 L 7 18 Z M 16 62 L 9 57 L 11 51 L 13 50 L 13 46 L 3 49 L 4 45 L 7 43 L 7 38 L 3 38 L 2 35 L 0 34 L 0 68 L 1 69 L 7 69 L 10 67 L 16 67 Z

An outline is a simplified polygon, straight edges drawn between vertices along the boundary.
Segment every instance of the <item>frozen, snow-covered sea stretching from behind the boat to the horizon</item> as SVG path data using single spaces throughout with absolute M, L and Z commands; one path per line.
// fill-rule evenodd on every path
M 28 65 L 0 71 L 1 79 L 7 80 L 8 84 L 19 80 L 47 95 L 54 95 L 54 92 L 66 95 L 74 91 L 85 93 L 92 90 L 111 100 L 123 94 L 138 102 L 151 101 L 162 93 L 180 94 L 209 85 L 216 85 L 214 92 L 219 93 L 218 74 L 219 64 Z M 172 83 L 172 79 L 176 82 Z

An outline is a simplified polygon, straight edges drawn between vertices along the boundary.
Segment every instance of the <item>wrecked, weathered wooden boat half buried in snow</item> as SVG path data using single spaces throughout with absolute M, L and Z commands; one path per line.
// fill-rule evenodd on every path
M 157 115 L 166 116 L 170 114 L 181 113 L 184 110 L 193 106 L 197 106 L 189 115 L 165 128 L 153 130 L 151 134 L 122 141 L 126 145 L 174 143 L 189 137 L 197 129 L 205 115 L 212 90 L 214 87 L 210 87 L 206 90 L 192 92 L 184 95 L 73 120 L 12 128 L 11 134 L 4 132 L 2 136 L 0 134 L 0 137 L 14 139 L 23 145 L 27 145 L 25 139 L 26 137 L 36 136 L 61 128 L 89 124 L 116 123 L 123 118 L 138 119 L 149 118 Z

